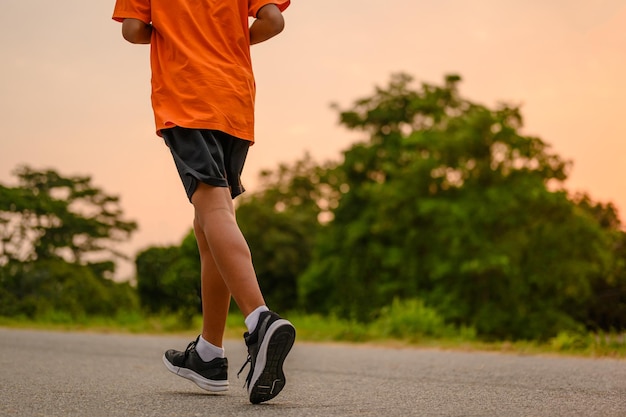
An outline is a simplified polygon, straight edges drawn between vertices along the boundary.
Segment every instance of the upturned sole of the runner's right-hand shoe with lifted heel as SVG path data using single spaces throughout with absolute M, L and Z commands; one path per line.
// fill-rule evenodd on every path
M 250 380 L 250 402 L 259 404 L 276 397 L 285 387 L 283 363 L 296 340 L 296 329 L 284 319 L 267 330 L 257 354 Z

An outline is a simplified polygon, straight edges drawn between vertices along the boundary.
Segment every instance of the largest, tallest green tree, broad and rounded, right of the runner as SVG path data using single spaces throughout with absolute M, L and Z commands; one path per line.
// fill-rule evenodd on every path
M 460 77 L 386 88 L 340 111 L 369 140 L 344 154 L 334 220 L 299 279 L 309 309 L 372 320 L 394 298 L 424 300 L 486 336 L 576 328 L 611 239 L 562 186 L 570 163 L 520 133 L 516 107 L 462 98 Z

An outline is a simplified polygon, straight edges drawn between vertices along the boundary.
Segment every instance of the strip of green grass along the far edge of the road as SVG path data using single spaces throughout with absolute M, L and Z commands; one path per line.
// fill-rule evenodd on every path
M 443 332 L 412 329 L 400 334 L 397 323 L 383 318 L 369 325 L 337 317 L 290 314 L 299 341 L 360 343 L 386 347 L 418 347 L 462 351 L 490 351 L 529 355 L 570 355 L 588 358 L 626 358 L 626 334 L 581 334 L 562 332 L 546 341 L 486 342 L 476 337 L 472 329 L 445 329 Z M 145 316 L 137 312 L 114 317 L 70 317 L 48 314 L 37 320 L 25 317 L 0 317 L 0 326 L 57 331 L 93 331 L 100 333 L 185 334 L 195 336 L 201 327 L 201 317 L 182 319 L 176 315 Z M 426 329 L 429 327 L 426 326 Z M 228 317 L 226 338 L 239 339 L 245 331 L 243 317 L 233 312 Z

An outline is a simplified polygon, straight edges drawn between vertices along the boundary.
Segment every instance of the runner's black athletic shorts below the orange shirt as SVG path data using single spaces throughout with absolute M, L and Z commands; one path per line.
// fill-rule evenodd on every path
M 241 172 L 250 142 L 218 130 L 187 129 L 175 126 L 161 130 L 170 148 L 187 198 L 198 181 L 214 187 L 228 187 L 232 198 L 243 193 Z

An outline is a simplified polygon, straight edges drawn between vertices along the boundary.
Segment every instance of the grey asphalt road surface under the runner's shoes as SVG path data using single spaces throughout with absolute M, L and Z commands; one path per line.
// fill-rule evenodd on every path
M 172 336 L 0 329 L 0 416 L 626 416 L 626 361 L 299 343 L 287 386 L 248 402 L 170 374 Z

